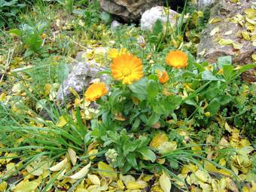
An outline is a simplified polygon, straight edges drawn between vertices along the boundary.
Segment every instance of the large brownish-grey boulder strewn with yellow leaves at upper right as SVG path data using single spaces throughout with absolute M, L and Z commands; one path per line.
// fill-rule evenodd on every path
M 256 25 L 248 23 L 245 14 L 245 10 L 253 5 L 247 0 L 239 2 L 220 1 L 211 9 L 209 25 L 203 30 L 198 45 L 198 59 L 213 63 L 219 56 L 230 55 L 235 66 L 254 62 L 251 56 L 256 53 L 256 42 L 253 39 Z M 242 35 L 244 33 L 248 34 L 247 40 Z M 249 70 L 242 75 L 242 79 L 254 82 L 254 73 L 254 69 Z

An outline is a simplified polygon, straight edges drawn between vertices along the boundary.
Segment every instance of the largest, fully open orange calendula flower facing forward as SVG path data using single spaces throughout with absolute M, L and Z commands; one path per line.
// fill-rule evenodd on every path
M 123 84 L 133 84 L 143 76 L 142 59 L 132 54 L 122 54 L 113 59 L 111 63 L 112 77 Z

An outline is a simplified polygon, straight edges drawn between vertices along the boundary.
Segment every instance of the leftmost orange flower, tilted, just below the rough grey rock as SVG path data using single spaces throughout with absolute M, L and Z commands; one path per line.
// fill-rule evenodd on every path
M 108 93 L 107 86 L 103 83 L 91 84 L 84 93 L 85 99 L 94 102 Z

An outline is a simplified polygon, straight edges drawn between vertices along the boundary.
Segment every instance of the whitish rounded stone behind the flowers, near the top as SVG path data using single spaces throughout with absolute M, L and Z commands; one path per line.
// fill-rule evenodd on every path
M 169 17 L 167 14 L 169 14 Z M 175 26 L 177 19 L 178 13 L 176 11 L 171 9 L 167 11 L 167 8 L 164 8 L 163 6 L 157 6 L 149 9 L 148 11 L 145 11 L 145 13 L 142 14 L 141 29 L 152 31 L 157 20 L 160 20 L 163 26 L 166 25 L 167 20 L 169 20 L 171 26 Z

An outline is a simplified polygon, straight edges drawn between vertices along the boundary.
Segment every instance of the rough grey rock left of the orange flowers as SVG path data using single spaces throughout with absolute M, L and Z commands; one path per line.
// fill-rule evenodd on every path
M 99 64 L 94 61 L 75 63 L 72 67 L 72 71 L 59 87 L 57 99 L 62 101 L 64 97 L 69 98 L 69 96 L 72 95 L 69 87 L 74 88 L 78 93 L 82 93 L 83 90 L 85 91 L 87 87 L 89 87 L 94 79 L 99 78 L 103 82 L 106 81 L 108 78 L 107 75 L 98 75 L 99 72 L 104 70 L 105 68 L 99 66 Z

